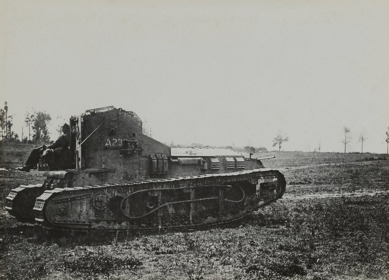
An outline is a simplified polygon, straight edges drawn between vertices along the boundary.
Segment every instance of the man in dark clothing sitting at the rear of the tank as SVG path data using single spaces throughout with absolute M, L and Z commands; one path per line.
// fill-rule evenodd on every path
M 49 149 L 57 149 L 57 148 L 67 149 L 69 147 L 69 143 L 70 143 L 70 138 L 69 138 L 70 128 L 69 128 L 69 125 L 67 123 L 65 123 L 62 126 L 62 132 L 63 132 L 63 135 L 61 135 L 54 143 L 49 144 L 47 146 L 46 145 L 39 146 L 39 147 L 33 149 L 30 153 L 30 156 L 26 160 L 25 166 L 18 167 L 18 168 L 16 168 L 16 170 L 30 172 L 31 169 L 37 169 L 40 156 L 42 155 L 43 150 L 45 150 L 46 148 L 49 148 Z

